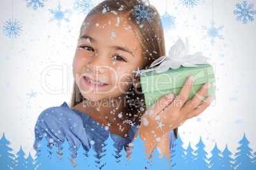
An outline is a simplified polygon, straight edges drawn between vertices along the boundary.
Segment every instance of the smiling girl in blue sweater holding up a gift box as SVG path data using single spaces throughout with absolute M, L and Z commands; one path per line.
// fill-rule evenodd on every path
M 148 10 L 149 19 L 138 9 Z M 47 108 L 39 115 L 35 150 L 44 135 L 49 148 L 55 143 L 61 150 L 67 138 L 72 157 L 76 157 L 80 143 L 87 152 L 92 147 L 99 157 L 109 133 L 118 153 L 123 147 L 127 152 L 131 150 L 129 143 L 139 133 L 146 143 L 146 154 L 157 146 L 160 157 L 164 152 L 169 157 L 178 126 L 201 114 L 214 98 L 198 100 L 210 87 L 206 83 L 184 104 L 192 86 L 190 76 L 180 95 L 174 98 L 169 93 L 146 109 L 138 73 L 166 53 L 159 18 L 148 1 L 106 0 L 90 11 L 81 26 L 73 60 L 71 105 L 64 101 L 60 107 Z

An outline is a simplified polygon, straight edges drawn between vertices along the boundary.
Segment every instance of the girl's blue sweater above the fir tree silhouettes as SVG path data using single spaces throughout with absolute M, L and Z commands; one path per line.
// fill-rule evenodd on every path
M 117 148 L 117 154 L 121 152 L 123 147 L 125 149 L 128 147 L 137 130 L 138 126 L 132 126 L 129 129 L 127 138 L 122 138 L 117 134 L 110 134 L 112 140 L 115 141 L 113 146 Z M 73 153 L 72 157 L 76 157 L 76 151 L 81 143 L 83 149 L 87 152 L 92 146 L 99 155 L 104 146 L 103 142 L 107 140 L 109 133 L 110 131 L 101 126 L 99 122 L 90 119 L 89 115 L 79 110 L 69 108 L 64 101 L 60 107 L 46 108 L 41 112 L 34 129 L 35 141 L 33 147 L 38 152 L 38 142 L 42 140 L 44 135 L 49 142 L 47 147 L 50 149 L 55 143 L 55 147 L 62 150 L 61 145 L 67 138 L 69 145 L 71 145 L 69 150 Z M 171 130 L 169 131 L 170 153 L 173 152 L 174 140 L 176 140 L 176 137 L 174 131 Z

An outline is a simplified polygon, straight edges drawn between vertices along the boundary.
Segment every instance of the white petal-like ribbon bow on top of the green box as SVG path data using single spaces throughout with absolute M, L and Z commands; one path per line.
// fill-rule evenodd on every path
M 145 72 L 150 72 L 155 70 L 157 73 L 166 72 L 171 69 L 180 69 L 181 65 L 183 67 L 198 67 L 195 64 L 204 64 L 207 63 L 206 60 L 208 59 L 206 56 L 203 56 L 202 52 L 197 52 L 194 55 L 188 55 L 188 38 L 186 37 L 186 45 L 184 42 L 179 39 L 175 42 L 175 44 L 169 49 L 169 55 L 160 56 L 157 60 L 153 61 L 150 67 L 154 67 L 152 69 L 142 70 L 141 74 Z M 159 65 L 160 64 L 160 65 Z M 158 67 L 155 67 L 159 65 Z

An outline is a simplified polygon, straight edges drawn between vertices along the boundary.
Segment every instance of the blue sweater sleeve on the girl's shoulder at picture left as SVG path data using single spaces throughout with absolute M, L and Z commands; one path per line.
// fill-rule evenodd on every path
M 69 150 L 76 157 L 76 151 L 82 143 L 85 150 L 89 150 L 89 140 L 83 127 L 82 118 L 73 110 L 64 107 L 50 107 L 41 112 L 34 128 L 35 140 L 33 148 L 38 152 L 38 143 L 43 135 L 48 141 L 47 147 L 52 149 L 53 144 L 62 150 L 62 143 L 68 140 Z

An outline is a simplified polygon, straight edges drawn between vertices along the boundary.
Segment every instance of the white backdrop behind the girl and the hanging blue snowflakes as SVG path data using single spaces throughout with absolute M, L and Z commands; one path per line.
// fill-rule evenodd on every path
M 41 73 L 51 65 L 65 65 L 67 68 L 72 65 L 80 26 L 85 18 L 83 13 L 73 10 L 74 2 L 60 1 L 60 10 L 71 11 L 65 15 L 70 22 L 62 20 L 58 27 L 56 20 L 48 22 L 53 17 L 48 9 L 57 8 L 59 1 L 45 1 L 44 8 L 34 11 L 25 6 L 25 1 L 15 0 L 13 17 L 22 23 L 22 34 L 12 40 L 3 34 L 3 22 L 11 18 L 11 1 L 1 1 L 0 138 L 4 132 L 11 142 L 12 153 L 17 153 L 22 145 L 25 154 L 31 152 L 34 157 L 36 152 L 32 144 L 38 115 L 48 107 L 59 106 L 64 101 L 69 103 L 72 72 L 68 69 L 48 72 L 46 85 L 50 89 L 64 89 L 64 93 L 59 95 L 49 94 L 42 88 Z M 190 141 L 192 148 L 196 149 L 194 145 L 201 136 L 206 152 L 210 152 L 217 142 L 220 150 L 223 151 L 227 144 L 234 154 L 238 152 L 238 141 L 245 133 L 250 141 L 249 147 L 255 152 L 256 77 L 253 65 L 256 62 L 256 21 L 247 24 L 236 21 L 233 11 L 236 10 L 236 3 L 242 3 L 240 0 L 214 1 L 214 26 L 224 25 L 218 32 L 224 39 L 215 37 L 215 44 L 212 45 L 210 37 L 202 39 L 207 34 L 202 25 L 211 27 L 211 1 L 199 1 L 200 4 L 190 9 L 182 6 L 179 0 L 169 1 L 167 6 L 166 1 L 150 2 L 160 15 L 167 9 L 170 15 L 176 17 L 176 28 L 165 32 L 166 52 L 178 36 L 183 41 L 188 37 L 189 53 L 203 51 L 204 56 L 211 58 L 208 62 L 215 65 L 216 103 L 180 127 L 183 147 L 187 148 Z M 255 0 L 249 2 L 256 5 Z M 36 95 L 30 98 L 27 93 L 32 91 Z

